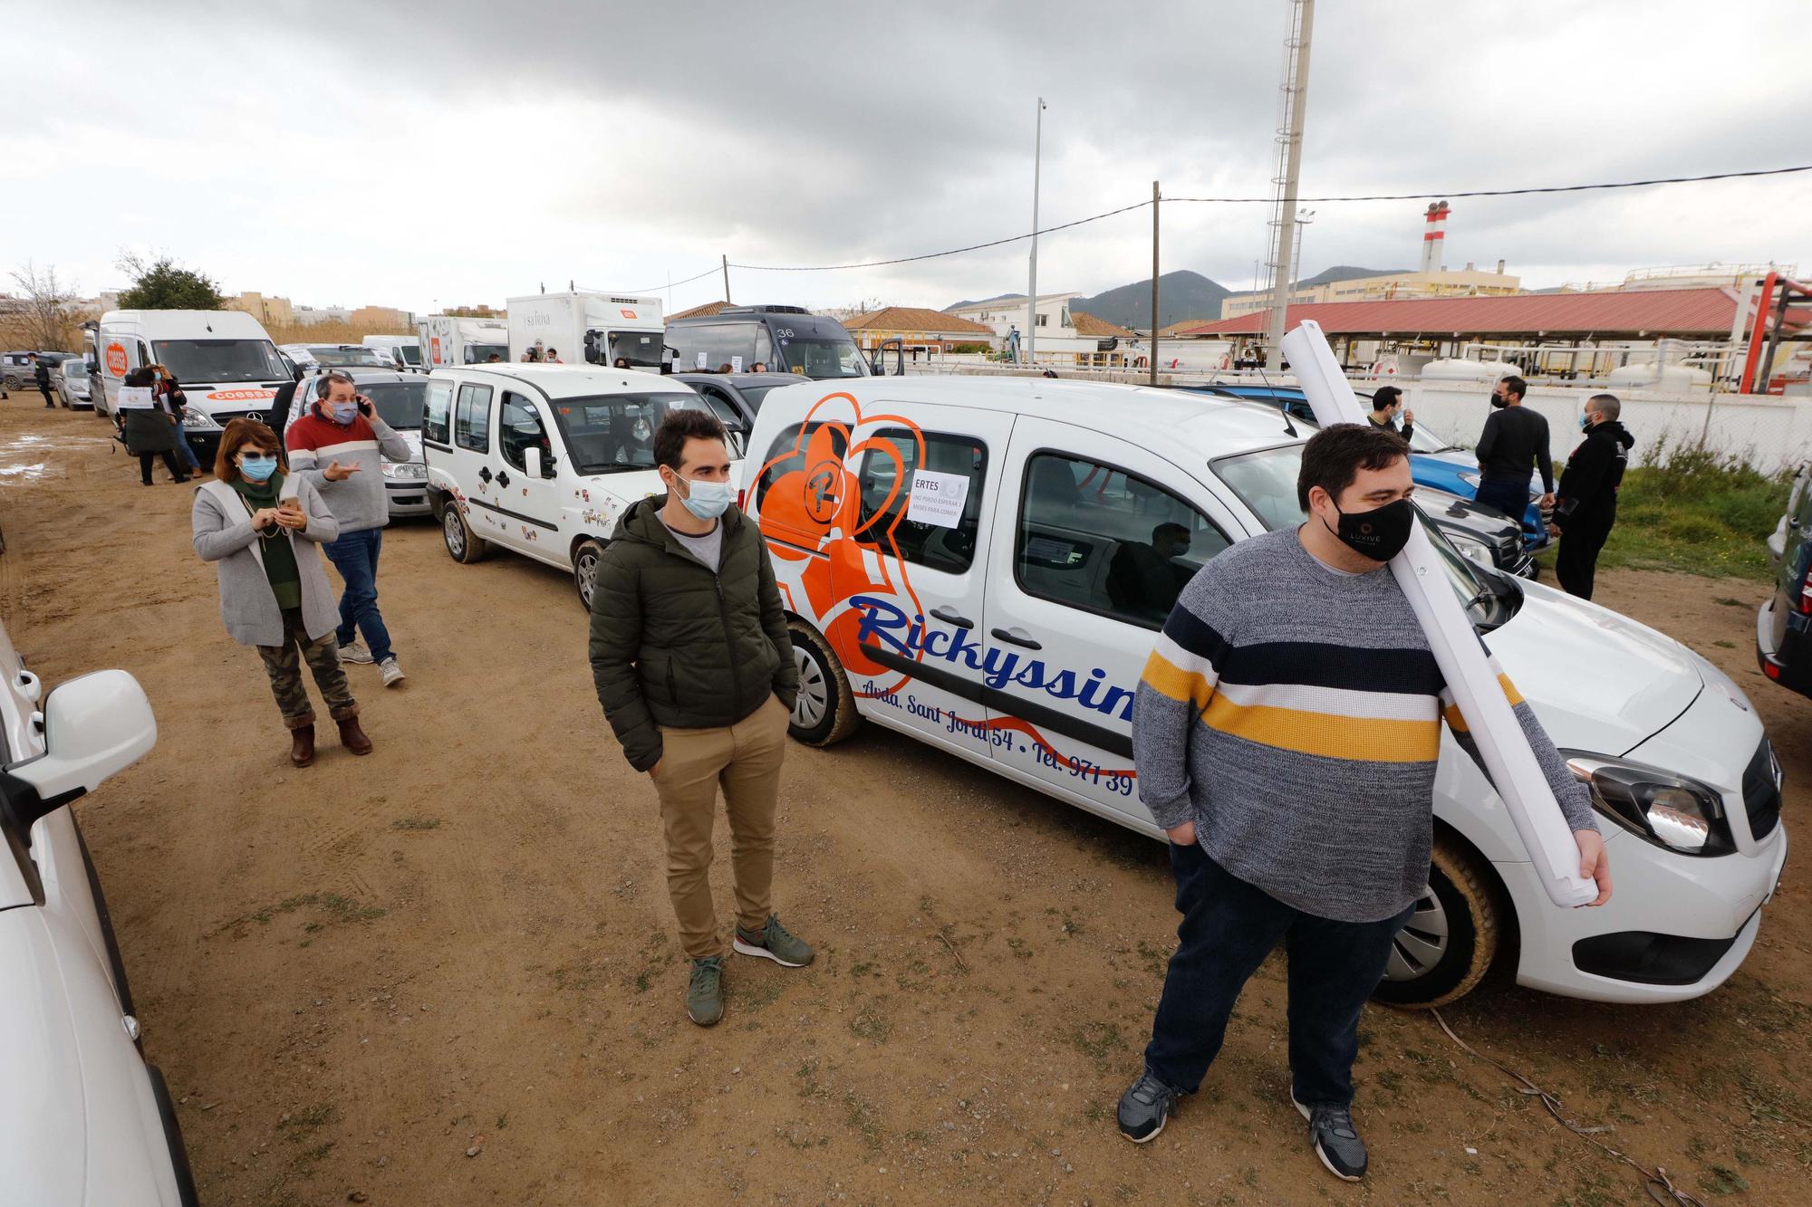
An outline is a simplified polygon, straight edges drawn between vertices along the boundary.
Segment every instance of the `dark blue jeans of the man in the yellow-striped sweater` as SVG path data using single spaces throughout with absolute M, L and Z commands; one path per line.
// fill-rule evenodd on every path
M 1290 1073 L 1303 1106 L 1352 1106 L 1359 1011 L 1384 979 L 1390 941 L 1413 904 L 1383 922 L 1303 913 L 1247 884 L 1200 845 L 1171 846 L 1181 944 L 1145 1048 L 1145 1067 L 1196 1093 L 1221 1051 L 1239 990 L 1281 939 L 1290 955 Z

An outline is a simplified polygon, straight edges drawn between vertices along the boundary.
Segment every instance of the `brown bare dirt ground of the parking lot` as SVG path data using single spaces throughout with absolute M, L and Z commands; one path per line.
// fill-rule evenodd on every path
M 1161 846 L 873 727 L 788 754 L 777 904 L 817 964 L 732 957 L 728 1015 L 699 1029 L 652 790 L 600 716 L 571 578 L 388 531 L 408 685 L 353 667 L 377 752 L 324 739 L 297 772 L 188 506 L 92 415 L 0 404 L 0 616 L 49 683 L 125 667 L 158 710 L 156 750 L 76 812 L 205 1203 L 1649 1202 L 1430 1015 L 1386 1008 L 1357 1066 L 1372 1176 L 1334 1182 L 1288 1104 L 1281 957 L 1203 1093 L 1127 1144 L 1114 1100 L 1174 946 Z M 1763 593 L 1602 584 L 1752 692 L 1794 826 L 1812 705 L 1754 671 Z M 719 848 L 725 917 L 727 870 Z M 1808 951 L 1790 864 L 1701 1000 L 1497 984 L 1446 1017 L 1700 1198 L 1805 1202 Z

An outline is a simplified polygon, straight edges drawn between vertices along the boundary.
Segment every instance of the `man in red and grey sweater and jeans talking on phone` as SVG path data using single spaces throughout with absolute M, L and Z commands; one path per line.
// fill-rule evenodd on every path
M 375 661 L 384 687 L 395 687 L 402 681 L 402 667 L 377 611 L 377 555 L 390 522 L 382 466 L 384 457 L 410 460 L 413 453 L 346 373 L 323 373 L 312 386 L 308 413 L 290 424 L 284 442 L 290 473 L 308 478 L 341 522 L 339 540 L 324 546 L 333 569 L 346 580 L 337 632 L 341 661 Z

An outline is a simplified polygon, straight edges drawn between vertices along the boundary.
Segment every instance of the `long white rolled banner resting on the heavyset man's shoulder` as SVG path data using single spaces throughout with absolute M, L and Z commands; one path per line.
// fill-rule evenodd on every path
M 1283 355 L 1288 357 L 1290 372 L 1308 395 L 1317 424 L 1326 428 L 1366 422 L 1359 399 L 1317 323 L 1303 323 L 1285 335 Z M 1535 761 L 1522 723 L 1517 721 L 1509 698 L 1491 671 L 1486 647 L 1466 618 L 1453 587 L 1448 585 L 1441 555 L 1421 524 L 1410 529 L 1410 544 L 1402 553 L 1390 560 L 1390 573 L 1397 576 L 1397 585 L 1402 587 L 1422 632 L 1428 634 L 1428 647 L 1448 681 L 1448 690 L 1453 692 L 1453 703 L 1466 718 L 1479 758 L 1491 776 L 1491 787 L 1504 799 L 1504 808 L 1529 852 L 1547 897 L 1557 906 L 1593 901 L 1598 886 L 1580 875 L 1580 850 L 1573 841 L 1573 828 L 1560 812 L 1560 803 L 1547 787 L 1540 763 Z

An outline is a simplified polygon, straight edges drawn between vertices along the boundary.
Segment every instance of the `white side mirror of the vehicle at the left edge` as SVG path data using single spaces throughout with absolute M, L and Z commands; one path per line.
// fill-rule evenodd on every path
M 43 758 L 11 768 L 38 792 L 31 825 L 109 776 L 125 770 L 158 745 L 150 700 L 125 671 L 96 671 L 60 683 L 43 700 Z

